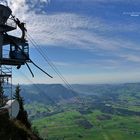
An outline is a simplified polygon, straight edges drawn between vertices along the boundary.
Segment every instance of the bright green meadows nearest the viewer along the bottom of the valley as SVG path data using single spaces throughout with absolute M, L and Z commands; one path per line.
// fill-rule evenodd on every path
M 77 111 L 68 111 L 33 122 L 41 136 L 65 140 L 139 140 L 140 117 L 113 116 L 111 120 L 99 121 L 96 116 L 100 111 L 81 115 Z M 93 124 L 90 129 L 79 126 L 76 122 L 86 119 Z

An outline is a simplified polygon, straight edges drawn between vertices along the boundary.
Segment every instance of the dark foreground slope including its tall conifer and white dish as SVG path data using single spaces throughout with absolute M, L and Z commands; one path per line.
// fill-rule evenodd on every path
M 3 88 L 3 87 L 1 87 Z M 17 85 L 13 98 L 2 98 L 5 104 L 0 108 L 0 139 L 1 140 L 42 140 L 28 119 L 24 109 L 24 99 L 20 96 Z M 8 101 L 8 102 L 7 102 Z

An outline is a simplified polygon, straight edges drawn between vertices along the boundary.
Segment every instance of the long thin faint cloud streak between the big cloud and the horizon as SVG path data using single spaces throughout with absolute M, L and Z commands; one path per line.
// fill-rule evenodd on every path
M 53 62 L 56 67 L 59 69 L 63 69 L 65 71 L 70 71 L 71 73 L 75 73 L 74 70 L 78 70 L 78 74 L 84 74 L 85 71 L 88 73 L 98 73 L 98 72 L 109 72 L 112 70 L 124 69 L 125 66 L 118 60 L 111 60 L 111 59 L 91 59 L 86 60 L 85 62 L 63 62 L 63 61 L 56 61 Z

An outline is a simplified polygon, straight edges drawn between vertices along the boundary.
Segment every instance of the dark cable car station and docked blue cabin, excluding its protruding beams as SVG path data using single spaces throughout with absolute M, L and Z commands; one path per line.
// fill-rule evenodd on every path
M 25 24 L 11 15 L 9 7 L 0 4 L 0 65 L 12 65 L 18 68 L 29 60 L 29 45 L 26 40 L 27 29 Z M 8 24 L 9 17 L 12 17 L 14 25 Z M 22 36 L 16 37 L 8 35 L 7 32 L 15 30 L 18 26 L 22 31 Z M 9 46 L 8 53 L 5 55 L 5 46 Z

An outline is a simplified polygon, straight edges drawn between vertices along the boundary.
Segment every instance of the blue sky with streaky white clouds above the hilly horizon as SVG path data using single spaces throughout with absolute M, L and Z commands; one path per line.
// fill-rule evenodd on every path
M 71 84 L 140 82 L 139 0 L 1 0 Z M 32 64 L 14 83 L 63 83 L 30 42 Z

